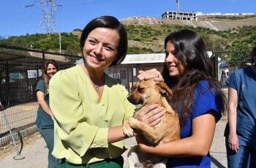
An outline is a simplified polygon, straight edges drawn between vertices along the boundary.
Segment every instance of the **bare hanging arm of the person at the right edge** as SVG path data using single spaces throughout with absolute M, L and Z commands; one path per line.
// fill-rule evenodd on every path
M 228 88 L 228 110 L 227 110 L 227 120 L 228 126 L 230 129 L 230 134 L 228 136 L 228 143 L 230 149 L 237 152 L 238 151 L 238 137 L 236 134 L 236 116 L 237 116 L 237 108 L 238 105 L 238 97 L 237 91 L 233 88 Z

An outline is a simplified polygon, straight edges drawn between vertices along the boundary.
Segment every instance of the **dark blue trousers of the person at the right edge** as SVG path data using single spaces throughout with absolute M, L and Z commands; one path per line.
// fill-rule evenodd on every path
M 229 168 L 251 168 L 256 165 L 256 149 L 249 148 L 239 143 L 238 152 L 234 152 L 228 147 L 228 137 L 225 138 L 227 150 L 227 167 Z M 238 136 L 239 142 L 241 142 Z

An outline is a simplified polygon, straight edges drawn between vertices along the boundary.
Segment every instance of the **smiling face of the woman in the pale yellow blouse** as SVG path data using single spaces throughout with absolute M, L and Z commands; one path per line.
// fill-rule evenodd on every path
M 116 58 L 119 35 L 116 29 L 95 28 L 83 46 L 86 65 L 91 69 L 104 70 Z

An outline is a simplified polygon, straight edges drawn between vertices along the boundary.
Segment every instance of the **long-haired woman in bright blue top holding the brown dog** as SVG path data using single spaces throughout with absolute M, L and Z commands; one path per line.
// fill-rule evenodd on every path
M 173 88 L 170 104 L 180 117 L 181 140 L 158 146 L 138 140 L 140 150 L 168 156 L 167 167 L 211 167 L 209 150 L 225 99 L 203 39 L 187 29 L 173 32 L 165 38 L 165 55 L 162 76 L 151 69 L 138 78 L 163 78 Z

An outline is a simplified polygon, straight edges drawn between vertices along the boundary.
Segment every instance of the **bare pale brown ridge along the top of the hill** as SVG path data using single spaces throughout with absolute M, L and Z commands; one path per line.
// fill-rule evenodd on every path
M 121 20 L 124 24 L 135 25 L 154 25 L 154 24 L 176 24 L 193 27 L 210 28 L 215 31 L 226 31 L 228 29 L 243 27 L 243 26 L 256 26 L 256 17 L 246 18 L 241 20 L 222 20 L 214 18 L 198 18 L 194 20 L 167 20 L 162 18 L 150 17 L 129 17 Z

